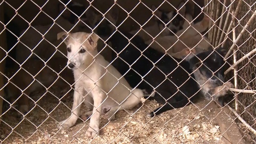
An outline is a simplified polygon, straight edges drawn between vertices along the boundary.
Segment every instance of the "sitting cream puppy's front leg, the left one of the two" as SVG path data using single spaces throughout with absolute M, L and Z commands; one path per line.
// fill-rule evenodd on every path
M 58 129 L 61 129 L 61 126 L 68 129 L 76 123 L 76 120 L 78 119 L 81 103 L 83 101 L 84 93 L 85 93 L 85 90 L 83 86 L 75 86 L 74 102 L 72 107 L 73 112 L 71 113 L 70 118 L 68 118 L 67 120 L 61 121 L 60 124 L 58 124 L 57 126 Z

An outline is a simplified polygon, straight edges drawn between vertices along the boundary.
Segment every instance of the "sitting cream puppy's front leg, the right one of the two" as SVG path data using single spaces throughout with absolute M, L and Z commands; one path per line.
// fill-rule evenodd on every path
M 101 89 L 95 87 L 92 91 L 93 96 L 93 115 L 90 118 L 90 127 L 86 131 L 87 137 L 92 137 L 99 134 L 99 119 L 102 112 L 102 102 L 105 98 L 105 93 Z

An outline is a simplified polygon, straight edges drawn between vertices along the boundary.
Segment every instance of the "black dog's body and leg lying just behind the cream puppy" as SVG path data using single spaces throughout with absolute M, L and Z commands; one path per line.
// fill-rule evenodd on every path
M 125 36 L 130 39 L 133 35 Z M 181 62 L 180 59 L 148 47 L 138 36 L 131 43 L 127 38 L 118 32 L 111 37 L 112 47 L 118 53 L 118 58 L 114 59 L 112 65 L 124 75 L 131 87 L 145 89 L 149 94 L 155 88 L 154 97 L 146 98 L 155 99 L 164 106 L 155 109 L 148 116 L 184 107 L 195 100 L 199 88 L 189 76 L 192 71 L 188 62 Z M 179 62 L 181 63 L 178 65 Z

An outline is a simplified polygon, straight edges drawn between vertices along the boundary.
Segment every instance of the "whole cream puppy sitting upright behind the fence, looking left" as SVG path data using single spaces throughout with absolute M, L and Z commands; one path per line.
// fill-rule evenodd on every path
M 99 37 L 84 32 L 58 34 L 67 45 L 69 58 L 67 64 L 73 69 L 75 92 L 72 114 L 70 118 L 58 124 L 58 128 L 72 127 L 79 117 L 79 109 L 84 101 L 93 111 L 86 112 L 90 118 L 88 137 L 99 134 L 99 119 L 103 111 L 110 120 L 122 109 L 132 109 L 143 97 L 140 89 L 131 90 L 125 78 L 97 52 Z M 120 78 L 120 79 L 119 79 Z M 119 80 L 118 80 L 119 79 Z M 88 95 L 89 94 L 89 95 Z M 84 99 L 84 100 L 83 100 Z M 122 103 L 122 104 L 121 104 Z M 93 104 L 93 106 L 91 105 Z

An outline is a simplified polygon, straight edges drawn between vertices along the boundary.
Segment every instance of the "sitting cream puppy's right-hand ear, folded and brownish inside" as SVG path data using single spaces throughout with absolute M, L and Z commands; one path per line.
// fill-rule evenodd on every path
M 87 38 L 88 37 L 88 38 Z M 85 42 L 83 45 L 84 47 L 87 48 L 87 50 L 95 50 L 97 49 L 97 42 L 99 40 L 98 35 L 95 34 L 87 34 L 84 36 L 84 40 L 86 40 L 87 38 L 87 42 Z

